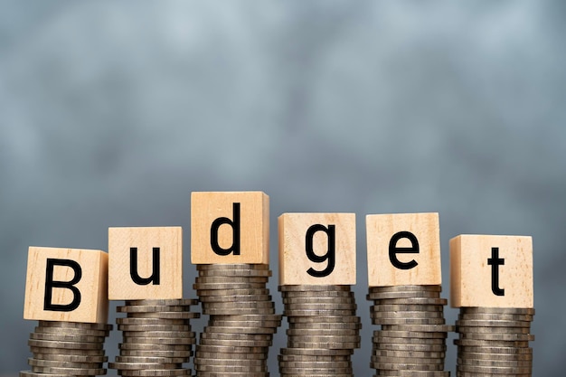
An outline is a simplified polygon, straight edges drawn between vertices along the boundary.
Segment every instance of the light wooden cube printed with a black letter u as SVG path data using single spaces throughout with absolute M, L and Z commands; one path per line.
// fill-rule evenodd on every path
M 182 228 L 108 228 L 108 298 L 183 298 Z

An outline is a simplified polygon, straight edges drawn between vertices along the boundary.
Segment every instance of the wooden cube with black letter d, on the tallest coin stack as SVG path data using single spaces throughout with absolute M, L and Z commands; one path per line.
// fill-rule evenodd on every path
M 193 264 L 269 264 L 269 196 L 191 193 Z

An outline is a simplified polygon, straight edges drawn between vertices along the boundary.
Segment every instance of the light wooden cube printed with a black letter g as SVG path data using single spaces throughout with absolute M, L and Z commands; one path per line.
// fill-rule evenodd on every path
M 283 213 L 280 285 L 354 285 L 355 214 Z

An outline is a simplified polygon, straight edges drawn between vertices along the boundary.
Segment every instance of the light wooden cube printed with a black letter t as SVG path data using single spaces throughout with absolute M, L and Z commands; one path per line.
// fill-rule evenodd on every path
M 533 307 L 533 239 L 459 235 L 450 240 L 450 305 Z

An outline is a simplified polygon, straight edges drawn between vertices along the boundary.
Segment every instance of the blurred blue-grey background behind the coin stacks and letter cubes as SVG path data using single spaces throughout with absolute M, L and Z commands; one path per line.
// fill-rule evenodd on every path
M 278 215 L 357 214 L 359 376 L 365 214 L 440 213 L 444 297 L 450 238 L 532 235 L 533 374 L 561 375 L 565 20 L 560 0 L 2 1 L 0 375 L 28 369 L 28 246 L 107 250 L 109 226 L 181 225 L 195 297 L 190 193 L 232 190 L 270 196 L 279 312 Z

